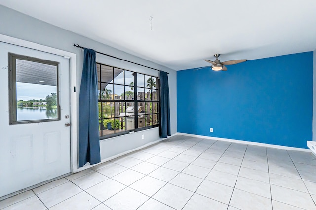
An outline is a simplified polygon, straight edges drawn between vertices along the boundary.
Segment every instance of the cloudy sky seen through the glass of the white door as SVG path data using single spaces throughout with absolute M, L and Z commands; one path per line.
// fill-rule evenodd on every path
M 50 93 L 57 93 L 56 86 L 40 85 L 33 83 L 16 83 L 16 99 L 19 100 L 40 100 L 46 99 Z

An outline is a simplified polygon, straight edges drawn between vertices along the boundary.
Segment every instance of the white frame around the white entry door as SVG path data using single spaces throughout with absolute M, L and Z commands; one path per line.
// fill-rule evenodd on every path
M 70 70 L 70 170 L 72 173 L 78 171 L 77 161 L 77 74 L 76 74 L 76 54 L 68 51 L 48 47 L 30 41 L 14 38 L 11 36 L 0 34 L 0 42 L 39 50 L 45 53 L 51 53 L 69 59 Z

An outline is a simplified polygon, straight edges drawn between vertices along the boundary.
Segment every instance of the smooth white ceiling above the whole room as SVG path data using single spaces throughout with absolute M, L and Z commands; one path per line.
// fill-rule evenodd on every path
M 222 54 L 221 61 L 253 60 L 316 48 L 316 0 L 0 0 L 0 4 L 174 70 L 208 66 L 203 59 L 214 60 L 215 53 Z

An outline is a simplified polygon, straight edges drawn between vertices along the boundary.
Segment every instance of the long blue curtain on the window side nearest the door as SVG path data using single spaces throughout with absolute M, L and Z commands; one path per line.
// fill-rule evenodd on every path
M 100 162 L 98 86 L 95 51 L 84 48 L 79 96 L 79 167 Z

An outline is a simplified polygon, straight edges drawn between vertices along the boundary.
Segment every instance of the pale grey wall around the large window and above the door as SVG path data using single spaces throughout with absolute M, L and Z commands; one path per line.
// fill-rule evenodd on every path
M 92 48 L 96 51 L 100 51 L 118 58 L 130 60 L 142 65 L 147 65 L 152 68 L 169 72 L 171 134 L 175 134 L 177 132 L 176 71 L 93 41 L 71 31 L 63 30 L 59 27 L 47 24 L 43 21 L 16 12 L 1 5 L 0 20 L 0 34 L 76 53 L 78 93 L 77 106 L 79 105 L 79 87 L 83 64 L 83 50 L 74 47 L 73 44 L 79 44 L 81 46 Z M 137 66 L 135 64 L 127 63 L 121 60 L 116 60 L 110 57 L 101 56 L 99 54 L 97 54 L 97 61 L 114 65 L 116 67 L 130 69 L 132 71 L 158 76 L 158 71 Z M 77 110 L 79 110 L 78 107 Z M 145 135 L 145 140 L 141 139 L 142 134 Z M 141 147 L 142 145 L 156 141 L 158 139 L 159 129 L 153 128 L 133 134 L 118 136 L 112 139 L 102 140 L 100 141 L 101 158 L 107 159 L 119 153 Z

